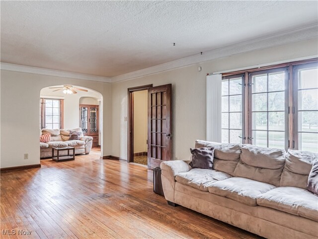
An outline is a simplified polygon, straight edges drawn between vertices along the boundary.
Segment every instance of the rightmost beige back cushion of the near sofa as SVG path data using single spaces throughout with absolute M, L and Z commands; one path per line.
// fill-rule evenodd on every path
M 280 185 L 307 189 L 308 175 L 317 158 L 316 153 L 289 149 Z

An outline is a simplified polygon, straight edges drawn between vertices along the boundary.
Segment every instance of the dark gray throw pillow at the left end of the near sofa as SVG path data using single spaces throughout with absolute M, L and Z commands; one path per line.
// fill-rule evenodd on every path
M 192 161 L 189 165 L 192 168 L 213 169 L 214 148 L 190 149 Z

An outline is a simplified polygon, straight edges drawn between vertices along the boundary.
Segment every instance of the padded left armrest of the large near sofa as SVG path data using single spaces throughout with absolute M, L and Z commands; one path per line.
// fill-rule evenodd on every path
M 172 161 L 165 161 L 160 164 L 161 168 L 161 175 L 167 178 L 173 189 L 174 189 L 174 182 L 175 176 L 179 173 L 188 172 L 191 168 L 189 165 L 189 161 L 183 160 L 172 160 Z

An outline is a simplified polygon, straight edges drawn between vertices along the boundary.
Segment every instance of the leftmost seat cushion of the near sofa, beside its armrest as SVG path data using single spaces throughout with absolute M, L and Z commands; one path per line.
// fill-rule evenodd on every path
M 175 180 L 201 191 L 208 191 L 211 182 L 231 178 L 232 176 L 221 171 L 211 169 L 191 169 L 176 175 Z

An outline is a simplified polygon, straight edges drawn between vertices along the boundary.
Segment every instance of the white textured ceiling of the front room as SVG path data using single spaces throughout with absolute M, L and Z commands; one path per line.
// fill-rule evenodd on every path
M 0 4 L 1 62 L 106 77 L 317 24 L 318 19 L 318 1 Z

